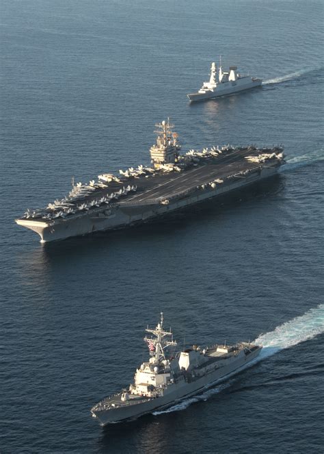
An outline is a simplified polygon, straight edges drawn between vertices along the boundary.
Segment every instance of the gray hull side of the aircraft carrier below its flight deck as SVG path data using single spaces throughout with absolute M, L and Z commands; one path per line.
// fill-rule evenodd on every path
M 56 220 L 55 223 L 46 223 L 38 220 L 16 220 L 16 223 L 36 231 L 40 235 L 41 242 L 55 240 L 64 240 L 74 236 L 82 236 L 97 231 L 106 231 L 109 229 L 118 229 L 129 225 L 143 223 L 146 220 L 162 216 L 183 207 L 194 205 L 201 201 L 219 197 L 232 190 L 237 190 L 244 186 L 254 184 L 256 181 L 271 177 L 278 171 L 278 164 L 268 165 L 258 168 L 256 171 L 249 173 L 247 177 L 239 179 L 226 180 L 224 184 L 218 185 L 215 189 L 208 186 L 205 190 L 197 189 L 185 197 L 180 197 L 174 201 L 170 200 L 167 205 L 161 203 L 152 203 L 148 201 L 143 203 L 118 203 L 111 207 L 109 214 L 103 208 L 97 208 L 91 212 L 83 212 L 73 218 Z

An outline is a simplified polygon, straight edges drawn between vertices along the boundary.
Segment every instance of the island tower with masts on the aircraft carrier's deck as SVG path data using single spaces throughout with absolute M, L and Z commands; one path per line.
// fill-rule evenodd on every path
M 150 147 L 152 164 L 155 168 L 160 168 L 164 164 L 174 164 L 178 159 L 181 149 L 180 145 L 176 142 L 178 134 L 172 132 L 174 125 L 167 118 L 167 121 L 163 120 L 155 126 L 159 129 L 154 131 L 157 134 L 157 143 Z

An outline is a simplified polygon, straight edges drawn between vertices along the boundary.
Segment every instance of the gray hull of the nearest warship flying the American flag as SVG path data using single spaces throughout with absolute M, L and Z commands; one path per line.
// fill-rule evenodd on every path
M 186 399 L 189 396 L 198 394 L 206 388 L 211 388 L 217 383 L 228 379 L 231 375 L 239 373 L 250 364 L 260 353 L 260 349 L 252 352 L 248 357 L 245 355 L 235 358 L 230 364 L 213 370 L 211 373 L 204 375 L 200 379 L 196 379 L 191 383 L 181 382 L 172 385 L 172 390 L 165 396 L 156 399 L 150 399 L 144 403 L 137 405 L 129 405 L 129 407 L 122 407 L 116 409 L 109 409 L 94 412 L 96 418 L 100 420 L 100 425 L 107 425 L 109 423 L 117 423 L 123 420 L 138 418 L 144 414 L 149 414 L 158 409 L 165 409 L 171 407 L 178 401 Z

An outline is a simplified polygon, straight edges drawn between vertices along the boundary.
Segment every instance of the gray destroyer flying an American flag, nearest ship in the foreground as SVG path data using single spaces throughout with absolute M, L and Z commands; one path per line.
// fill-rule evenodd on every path
M 100 425 L 138 418 L 165 409 L 211 388 L 219 381 L 238 373 L 260 353 L 262 346 L 249 342 L 215 344 L 201 348 L 193 345 L 175 353 L 176 341 L 163 329 L 163 312 L 155 329 L 146 329 L 150 336 L 150 358 L 137 368 L 129 388 L 100 401 L 91 409 Z M 167 354 L 172 347 L 173 354 Z

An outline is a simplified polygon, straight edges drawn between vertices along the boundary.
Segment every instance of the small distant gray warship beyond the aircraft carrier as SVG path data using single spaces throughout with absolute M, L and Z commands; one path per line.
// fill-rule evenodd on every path
M 202 101 L 204 99 L 216 98 L 249 90 L 262 84 L 262 79 L 240 75 L 237 66 L 230 66 L 229 71 L 223 71 L 221 63 L 217 71 L 216 63 L 211 64 L 211 74 L 208 82 L 202 84 L 202 88 L 195 93 L 187 94 L 190 101 Z

